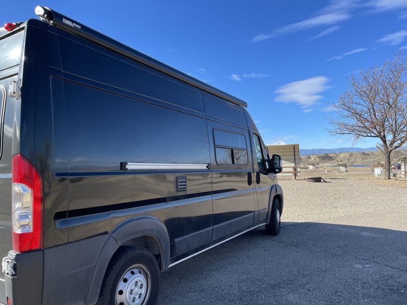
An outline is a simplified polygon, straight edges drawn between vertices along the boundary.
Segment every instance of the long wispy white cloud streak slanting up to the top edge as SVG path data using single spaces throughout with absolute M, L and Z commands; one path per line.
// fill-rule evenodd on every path
M 352 17 L 350 12 L 356 6 L 358 0 L 331 0 L 329 5 L 321 11 L 317 12 L 315 17 L 305 19 L 300 22 L 284 25 L 274 29 L 270 34 L 258 34 L 253 37 L 252 43 L 264 41 L 279 35 L 303 31 L 304 29 L 323 26 L 334 25 Z M 331 29 L 329 33 L 336 31 L 337 28 Z M 321 32 L 322 33 L 322 32 Z M 323 34 L 325 36 L 329 33 Z M 318 36 L 318 35 L 317 35 Z M 322 37 L 320 36 L 320 37 Z M 317 37 L 318 38 L 318 37 Z

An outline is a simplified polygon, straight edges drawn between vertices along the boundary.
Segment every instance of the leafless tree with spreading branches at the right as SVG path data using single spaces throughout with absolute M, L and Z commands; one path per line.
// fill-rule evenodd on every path
M 407 58 L 397 53 L 382 66 L 351 75 L 350 87 L 335 104 L 336 117 L 329 119 L 332 135 L 378 138 L 376 147 L 385 158 L 390 179 L 391 155 L 407 142 Z

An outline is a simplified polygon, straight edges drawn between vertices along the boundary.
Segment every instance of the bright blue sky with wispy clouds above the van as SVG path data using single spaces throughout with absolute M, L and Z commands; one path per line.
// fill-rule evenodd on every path
M 326 116 L 347 75 L 407 46 L 407 0 L 4 2 L 0 22 L 48 6 L 235 95 L 267 144 L 352 146 Z M 359 147 L 375 145 L 360 141 Z

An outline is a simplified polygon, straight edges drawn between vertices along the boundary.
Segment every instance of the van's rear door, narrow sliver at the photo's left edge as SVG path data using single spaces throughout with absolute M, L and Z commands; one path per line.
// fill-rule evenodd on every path
M 0 34 L 3 33 L 0 31 Z M 18 79 L 24 31 L 0 36 L 0 259 L 12 250 L 11 158 L 16 100 L 8 97 L 9 84 Z M 17 120 L 16 120 L 17 121 Z M 18 147 L 18 143 L 14 143 Z M 0 302 L 6 303 L 4 273 L 0 275 Z

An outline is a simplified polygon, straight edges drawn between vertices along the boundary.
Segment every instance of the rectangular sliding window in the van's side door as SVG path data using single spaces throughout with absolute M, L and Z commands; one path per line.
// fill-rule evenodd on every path
M 242 134 L 215 129 L 215 155 L 218 164 L 247 164 L 246 137 Z

